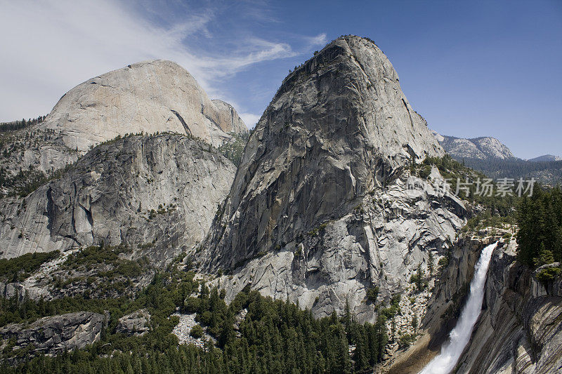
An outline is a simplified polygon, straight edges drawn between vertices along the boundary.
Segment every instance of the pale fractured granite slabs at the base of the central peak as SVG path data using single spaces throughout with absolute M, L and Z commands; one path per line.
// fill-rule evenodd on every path
M 433 189 L 407 189 L 403 176 L 345 215 L 256 255 L 221 282 L 228 284 L 227 300 L 251 284 L 264 295 L 298 300 L 316 316 L 341 312 L 348 302 L 360 321 L 372 321 L 368 288 L 379 286 L 379 300 L 387 301 L 410 288 L 417 266 L 428 272 L 429 252 L 435 262 L 445 255 L 462 225 L 446 199 Z

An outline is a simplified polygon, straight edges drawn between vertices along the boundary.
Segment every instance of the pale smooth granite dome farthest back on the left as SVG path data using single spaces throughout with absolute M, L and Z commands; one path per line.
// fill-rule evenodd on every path
M 178 133 L 220 147 L 248 129 L 236 109 L 207 93 L 175 62 L 152 60 L 89 79 L 63 95 L 44 121 L 0 140 L 0 166 L 51 174 L 100 142 L 126 134 Z M 39 173 L 39 174 L 38 174 Z M 18 185 L 18 180 L 12 185 Z M 4 193 L 10 194 L 7 186 Z

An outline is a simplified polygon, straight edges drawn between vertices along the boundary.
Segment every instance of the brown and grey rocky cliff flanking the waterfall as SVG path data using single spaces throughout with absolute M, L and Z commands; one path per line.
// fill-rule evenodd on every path
M 517 243 L 493 229 L 462 237 L 426 302 L 415 345 L 397 352 L 389 373 L 418 373 L 438 354 L 466 300 L 473 267 L 483 246 L 499 240 L 492 254 L 482 312 L 455 373 L 558 373 L 562 370 L 562 283 L 546 285 L 516 260 Z M 548 265 L 545 265 L 548 266 Z M 557 264 L 551 266 L 558 266 Z

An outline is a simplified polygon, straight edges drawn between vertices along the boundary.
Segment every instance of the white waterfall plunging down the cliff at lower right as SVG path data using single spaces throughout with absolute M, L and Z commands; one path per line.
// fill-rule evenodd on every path
M 452 329 L 449 340 L 441 347 L 440 354 L 431 360 L 419 374 L 447 374 L 455 368 L 464 347 L 470 340 L 472 328 L 482 309 L 486 273 L 488 273 L 488 265 L 490 265 L 492 252 L 496 245 L 497 243 L 493 243 L 483 249 L 470 283 L 469 300 L 466 300 L 457 326 Z

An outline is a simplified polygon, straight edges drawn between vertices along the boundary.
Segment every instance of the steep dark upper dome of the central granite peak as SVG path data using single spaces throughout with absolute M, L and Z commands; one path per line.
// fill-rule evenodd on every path
M 386 55 L 358 36 L 336 39 L 285 78 L 256 124 L 206 266 L 231 269 L 292 242 L 442 154 Z

